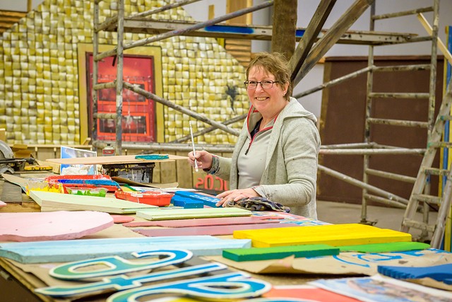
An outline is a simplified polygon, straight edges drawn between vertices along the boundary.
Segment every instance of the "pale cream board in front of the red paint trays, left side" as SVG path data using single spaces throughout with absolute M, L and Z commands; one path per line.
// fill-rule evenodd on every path
M 41 211 L 104 211 L 114 214 L 130 214 L 142 209 L 157 208 L 150 204 L 138 204 L 110 197 L 95 197 L 53 192 L 30 191 L 30 197 L 41 206 Z

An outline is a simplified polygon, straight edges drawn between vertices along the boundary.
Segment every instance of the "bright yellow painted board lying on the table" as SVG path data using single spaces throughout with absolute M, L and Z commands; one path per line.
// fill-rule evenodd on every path
M 411 241 L 411 235 L 408 233 L 359 223 L 234 231 L 234 238 L 251 239 L 255 248 L 304 244 L 340 246 Z

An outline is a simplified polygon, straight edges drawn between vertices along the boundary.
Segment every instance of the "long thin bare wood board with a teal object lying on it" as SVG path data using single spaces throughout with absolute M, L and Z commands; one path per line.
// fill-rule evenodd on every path
M 165 161 L 186 160 L 186 156 L 169 155 L 168 159 L 155 159 L 146 161 L 136 159 L 134 155 L 98 156 L 98 157 L 74 157 L 74 158 L 49 158 L 46 161 L 63 165 L 109 165 L 113 163 L 155 163 Z

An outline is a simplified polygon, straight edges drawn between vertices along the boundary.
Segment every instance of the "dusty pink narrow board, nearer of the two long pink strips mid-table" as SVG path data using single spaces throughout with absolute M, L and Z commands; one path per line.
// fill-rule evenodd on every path
M 137 233 L 144 236 L 196 236 L 196 235 L 232 235 L 237 230 L 251 230 L 254 228 L 288 228 L 290 226 L 297 226 L 296 224 L 284 224 L 280 226 L 277 223 L 266 224 L 235 224 L 232 226 L 191 226 L 186 228 L 149 228 L 149 229 L 134 229 Z

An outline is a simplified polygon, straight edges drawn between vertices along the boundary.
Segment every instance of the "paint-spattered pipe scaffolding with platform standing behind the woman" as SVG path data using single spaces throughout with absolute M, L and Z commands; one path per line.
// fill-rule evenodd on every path
M 94 4 L 94 35 L 93 35 L 93 146 L 102 147 L 105 143 L 97 140 L 97 119 L 100 118 L 114 118 L 116 120 L 116 152 L 121 154 L 123 146 L 127 149 L 141 149 L 141 150 L 177 150 L 190 151 L 189 144 L 182 144 L 189 139 L 189 136 L 181 137 L 175 141 L 167 143 L 150 143 L 150 144 L 123 144 L 121 136 L 121 115 L 122 115 L 122 91 L 128 89 L 134 93 L 150 98 L 158 103 L 162 103 L 169 108 L 173 108 L 184 115 L 194 117 L 196 120 L 208 124 L 205 129 L 195 132 L 194 136 L 206 134 L 215 129 L 221 129 L 229 134 L 238 135 L 235 129 L 228 127 L 232 124 L 245 118 L 244 115 L 234 117 L 231 120 L 223 122 L 216 122 L 204 115 L 200 115 L 194 111 L 184 108 L 181 105 L 173 103 L 171 100 L 165 100 L 158 95 L 145 91 L 136 85 L 124 81 L 123 76 L 123 54 L 124 50 L 148 45 L 159 40 L 174 37 L 175 35 L 193 35 L 201 37 L 228 37 L 234 39 L 248 39 L 248 40 L 271 40 L 272 27 L 271 26 L 234 26 L 221 24 L 222 21 L 230 20 L 237 16 L 242 16 L 246 13 L 258 11 L 259 9 L 267 8 L 273 5 L 273 1 L 266 1 L 263 4 L 244 8 L 233 13 L 228 13 L 225 16 L 213 18 L 206 22 L 177 22 L 177 21 L 159 21 L 153 20 L 152 15 L 171 8 L 190 4 L 199 0 L 182 0 L 173 2 L 160 8 L 151 9 L 143 13 L 136 13 L 132 16 L 124 16 L 124 0 L 117 1 L 117 15 L 113 18 L 105 20 L 100 23 L 99 3 L 102 0 L 95 0 Z M 276 0 L 278 1 L 278 0 Z M 341 16 L 334 25 L 324 30 L 323 25 L 328 17 L 331 9 L 335 4 L 335 0 L 321 0 L 320 4 L 314 13 L 314 17 L 310 21 L 307 28 L 299 28 L 297 30 L 296 39 L 299 41 L 295 54 L 290 59 L 290 67 L 292 69 L 292 81 L 294 86 L 301 81 L 304 76 L 311 70 L 311 68 L 319 62 L 321 57 L 336 43 L 350 44 L 350 45 L 369 45 L 368 66 L 364 69 L 353 72 L 340 79 L 334 79 L 328 83 L 323 83 L 321 86 L 312 88 L 309 91 L 294 95 L 295 98 L 302 98 L 323 88 L 334 86 L 343 81 L 354 79 L 361 74 L 367 74 L 367 98 L 366 98 L 366 117 L 365 117 L 365 137 L 364 141 L 359 144 L 340 144 L 331 146 L 321 146 L 322 154 L 359 154 L 364 158 L 363 179 L 357 180 L 351 178 L 343 173 L 319 165 L 321 173 L 326 173 L 334 178 L 338 178 L 352 185 L 362 189 L 362 223 L 371 223 L 367 221 L 367 202 L 374 201 L 383 204 L 388 204 L 393 207 L 406 208 L 408 199 L 397 196 L 391 192 L 386 192 L 378 187 L 369 184 L 368 175 L 376 175 L 381 178 L 389 178 L 392 180 L 414 183 L 416 178 L 407 175 L 398 175 L 395 173 L 388 173 L 386 171 L 374 170 L 369 168 L 370 156 L 384 156 L 385 154 L 417 154 L 424 155 L 426 149 L 408 149 L 395 146 L 384 146 L 371 141 L 371 127 L 374 124 L 388 124 L 397 127 L 422 127 L 426 129 L 426 135 L 429 137 L 434 125 L 434 104 L 435 104 L 435 85 L 436 85 L 436 45 L 438 41 L 438 22 L 439 22 L 439 0 L 432 0 L 433 5 L 426 8 L 417 8 L 410 11 L 402 11 L 399 13 L 386 13 L 384 15 L 375 14 L 375 3 L 373 0 L 357 0 L 352 6 Z M 369 31 L 350 31 L 350 26 L 359 18 L 359 16 L 371 10 L 371 21 Z M 399 16 L 418 15 L 422 16 L 424 12 L 432 12 L 434 15 L 434 23 L 431 28 L 431 33 L 428 35 L 418 37 L 412 33 L 383 33 L 374 30 L 375 21 L 397 18 Z M 238 29 L 248 30 L 238 30 Z M 99 36 L 100 31 L 110 31 L 117 33 L 117 45 L 112 50 L 106 52 L 99 52 Z M 145 33 L 153 35 L 145 37 L 144 39 L 124 43 L 124 33 Z M 395 45 L 411 42 L 432 42 L 431 63 L 422 65 L 406 65 L 406 66 L 376 66 L 374 62 L 374 47 L 380 45 Z M 117 79 L 109 83 L 98 83 L 98 62 L 100 60 L 114 56 L 117 64 Z M 379 72 L 398 72 L 398 71 L 420 71 L 429 70 L 429 92 L 428 93 L 376 93 L 372 91 L 373 76 Z M 97 91 L 104 88 L 116 89 L 116 108 L 115 114 L 102 114 L 97 112 Z M 373 102 L 380 98 L 424 98 L 429 102 L 429 111 L 427 112 L 427 122 L 405 121 L 405 120 L 383 120 L 372 116 L 371 106 Z M 232 152 L 233 146 L 204 146 L 212 151 Z M 424 213 L 428 213 L 429 208 L 424 207 Z M 427 216 L 426 216 L 427 219 Z

